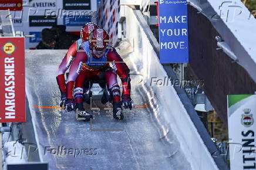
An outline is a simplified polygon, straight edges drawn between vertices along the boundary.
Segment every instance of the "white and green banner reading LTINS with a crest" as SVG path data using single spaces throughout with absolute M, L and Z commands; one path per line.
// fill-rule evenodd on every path
M 255 169 L 256 94 L 228 95 L 231 170 Z

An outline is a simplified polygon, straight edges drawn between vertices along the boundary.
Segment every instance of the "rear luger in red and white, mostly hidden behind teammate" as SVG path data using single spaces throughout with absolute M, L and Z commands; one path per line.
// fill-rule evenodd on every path
M 60 106 L 63 106 L 63 103 L 66 100 L 66 84 L 65 84 L 65 72 L 69 69 L 71 66 L 73 60 L 75 59 L 75 56 L 77 53 L 79 53 L 77 50 L 79 47 L 87 42 L 89 40 L 89 34 L 92 32 L 93 29 L 97 29 L 99 26 L 97 26 L 95 23 L 86 23 L 85 26 L 80 30 L 80 39 L 77 40 L 75 43 L 73 43 L 70 47 L 68 52 L 66 53 L 65 57 L 63 58 L 62 62 L 59 65 L 59 68 L 56 72 L 56 79 L 59 86 L 59 90 L 61 93 L 60 97 Z

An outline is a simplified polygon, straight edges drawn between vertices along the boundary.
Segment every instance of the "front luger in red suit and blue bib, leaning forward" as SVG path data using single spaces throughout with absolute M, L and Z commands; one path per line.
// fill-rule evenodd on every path
M 75 104 L 76 110 L 79 113 L 83 112 L 85 121 L 93 118 L 83 107 L 83 84 L 85 80 L 105 79 L 113 101 L 113 117 L 117 120 L 123 119 L 122 105 L 124 108 L 132 109 L 133 107 L 133 101 L 130 98 L 130 70 L 116 50 L 110 48 L 108 44 L 109 35 L 104 29 L 93 30 L 90 33 L 89 42 L 83 44 L 84 52 L 76 54 L 70 67 L 68 83 L 66 84 L 67 100 L 65 107 L 68 111 L 72 111 Z M 113 69 L 110 67 L 110 63 Z M 117 74 L 122 80 L 122 102 L 120 87 L 117 84 Z M 75 98 L 75 102 L 73 98 Z

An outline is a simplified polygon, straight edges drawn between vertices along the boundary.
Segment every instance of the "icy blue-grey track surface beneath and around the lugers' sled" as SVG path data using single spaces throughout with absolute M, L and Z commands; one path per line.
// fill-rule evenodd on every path
M 99 107 L 100 114 L 93 114 L 92 124 L 76 120 L 75 112 L 58 108 L 60 93 L 55 73 L 65 53 L 66 50 L 26 50 L 26 96 L 39 156 L 42 162 L 49 163 L 50 170 L 191 169 L 177 152 L 178 142 L 171 131 L 169 142 L 160 136 L 163 127 L 153 115 L 157 104 L 147 106 L 152 98 L 143 95 L 142 84 L 134 83 L 135 75 L 132 99 L 137 107 L 124 110 L 123 121 L 110 117 L 97 101 L 92 106 Z M 132 70 L 129 60 L 125 61 Z M 87 111 L 93 112 L 90 108 Z

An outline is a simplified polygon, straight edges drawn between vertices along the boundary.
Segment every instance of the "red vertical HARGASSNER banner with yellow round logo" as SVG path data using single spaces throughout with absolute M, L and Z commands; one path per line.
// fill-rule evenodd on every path
M 0 38 L 0 122 L 25 122 L 24 38 Z

